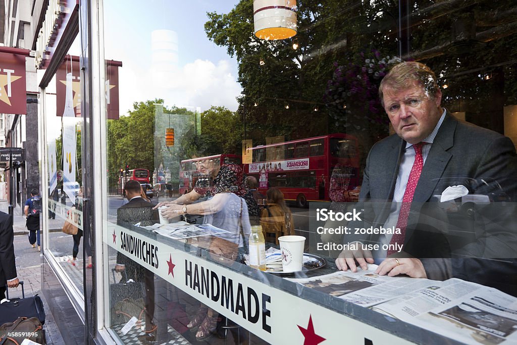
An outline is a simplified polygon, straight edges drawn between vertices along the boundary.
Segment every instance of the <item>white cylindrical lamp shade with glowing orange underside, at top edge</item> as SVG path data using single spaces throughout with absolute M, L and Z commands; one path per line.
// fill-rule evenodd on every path
M 297 33 L 296 0 L 253 0 L 255 36 L 278 40 Z

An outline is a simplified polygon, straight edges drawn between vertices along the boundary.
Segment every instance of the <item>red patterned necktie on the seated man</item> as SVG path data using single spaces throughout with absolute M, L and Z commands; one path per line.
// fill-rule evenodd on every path
M 413 167 L 409 173 L 406 190 L 404 191 L 404 197 L 402 198 L 402 205 L 400 207 L 399 219 L 397 220 L 397 228 L 400 228 L 400 234 L 393 234 L 391 237 L 391 241 L 389 242 L 390 248 L 388 249 L 386 256 L 390 256 L 396 251 L 394 249 L 397 247 L 395 244 L 398 244 L 398 247 L 404 244 L 409 209 L 411 208 L 411 202 L 413 201 L 413 195 L 415 194 L 415 189 L 417 188 L 418 179 L 422 173 L 422 146 L 424 144 L 425 143 L 423 142 L 413 144 L 413 148 L 415 149 L 415 161 L 413 162 Z

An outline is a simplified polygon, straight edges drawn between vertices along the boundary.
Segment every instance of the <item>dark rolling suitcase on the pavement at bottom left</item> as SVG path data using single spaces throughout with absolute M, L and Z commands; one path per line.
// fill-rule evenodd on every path
M 41 324 L 45 324 L 45 310 L 43 302 L 38 295 L 25 298 L 25 291 L 22 285 L 22 298 L 12 298 L 9 302 L 0 304 L 0 325 L 6 322 L 14 322 L 20 317 L 38 318 Z M 6 290 L 9 299 L 9 289 Z

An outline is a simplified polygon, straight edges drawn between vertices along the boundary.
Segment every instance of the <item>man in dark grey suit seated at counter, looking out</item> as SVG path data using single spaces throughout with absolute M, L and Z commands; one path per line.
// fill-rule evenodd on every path
M 513 201 L 517 190 L 517 158 L 510 139 L 459 122 L 441 108 L 442 93 L 436 77 L 421 63 L 404 62 L 393 67 L 379 87 L 379 96 L 396 134 L 376 143 L 368 155 L 359 200 L 374 204 L 365 206 L 364 213 L 370 223 L 356 222 L 348 227 L 396 228 L 416 159 L 416 149 L 412 147 L 415 144 L 422 144 L 423 167 L 409 201 L 405 236 L 399 244 L 403 249 L 389 256 L 386 250 L 372 253 L 363 250 L 362 244 L 376 243 L 382 247 L 390 244 L 391 235 L 345 235 L 344 244 L 349 246 L 336 260 L 338 268 L 356 272 L 357 265 L 366 268 L 367 262 L 377 262 L 380 264 L 376 272 L 381 275 L 446 279 L 465 274 L 461 277 L 468 279 L 465 271 L 474 263 L 472 258 L 505 258 L 509 266 L 504 271 L 509 267 L 509 274 L 515 274 L 513 258 L 517 257 L 517 241 L 512 227 L 501 230 L 485 223 L 482 227 L 464 229 L 470 233 L 459 246 L 442 229 L 448 220 L 440 218 L 446 213 L 437 211 L 436 205 L 443 203 L 430 202 L 439 199 L 453 185 L 465 187 L 469 194 L 485 196 L 486 200 L 493 197 L 495 185 L 507 201 Z M 354 247 L 353 243 L 360 245 Z M 449 260 L 455 254 L 462 258 Z M 475 265 L 479 266 L 479 262 Z M 479 267 L 495 266 L 493 262 L 483 262 Z M 515 277 L 517 274 L 511 279 Z

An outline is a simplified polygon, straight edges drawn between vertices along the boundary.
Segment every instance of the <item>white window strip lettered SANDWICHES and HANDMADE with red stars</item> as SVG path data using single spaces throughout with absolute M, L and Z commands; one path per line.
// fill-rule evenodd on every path
M 271 344 L 410 343 L 272 287 L 268 273 L 263 283 L 115 224 L 104 242 Z

